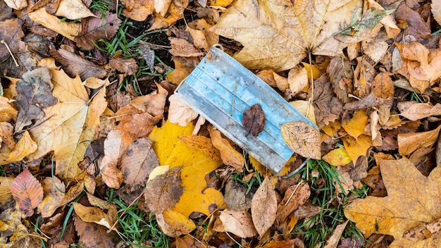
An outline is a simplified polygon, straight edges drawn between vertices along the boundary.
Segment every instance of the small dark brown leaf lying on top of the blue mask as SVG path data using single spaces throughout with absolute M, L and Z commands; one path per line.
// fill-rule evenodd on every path
M 242 125 L 245 131 L 248 131 L 248 134 L 251 133 L 251 135 L 257 137 L 265 128 L 265 120 L 265 113 L 263 113 L 261 104 L 254 104 L 244 111 Z

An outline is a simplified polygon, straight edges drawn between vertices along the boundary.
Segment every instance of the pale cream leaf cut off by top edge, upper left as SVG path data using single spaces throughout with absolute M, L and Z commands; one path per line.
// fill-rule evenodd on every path
M 97 17 L 81 0 L 60 0 L 55 15 L 63 16 L 70 20 L 87 18 L 89 16 Z

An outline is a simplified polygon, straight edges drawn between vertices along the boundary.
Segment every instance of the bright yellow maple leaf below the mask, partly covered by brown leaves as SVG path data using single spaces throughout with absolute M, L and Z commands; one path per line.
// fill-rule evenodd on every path
M 208 188 L 206 190 L 205 175 L 221 166 L 207 156 L 204 151 L 188 147 L 180 137 L 192 135 L 193 125 L 185 127 L 167 122 L 161 128 L 155 128 L 150 139 L 154 142 L 153 149 L 161 166 L 170 165 L 170 168 L 181 167 L 181 179 L 184 192 L 180 200 L 171 210 L 188 217 L 196 211 L 207 216 L 216 208 L 224 208 L 221 192 Z

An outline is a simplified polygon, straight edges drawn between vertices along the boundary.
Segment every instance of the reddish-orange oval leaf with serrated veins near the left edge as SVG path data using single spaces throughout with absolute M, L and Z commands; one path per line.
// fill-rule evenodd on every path
M 11 184 L 11 193 L 20 206 L 20 211 L 29 217 L 43 200 L 43 188 L 26 168 Z

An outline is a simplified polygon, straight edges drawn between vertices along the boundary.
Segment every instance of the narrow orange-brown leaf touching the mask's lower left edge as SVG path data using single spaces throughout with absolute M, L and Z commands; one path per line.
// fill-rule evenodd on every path
M 224 139 L 218 130 L 210 130 L 211 143 L 221 151 L 223 163 L 242 171 L 245 163 L 244 156 L 234 149 L 228 140 Z

